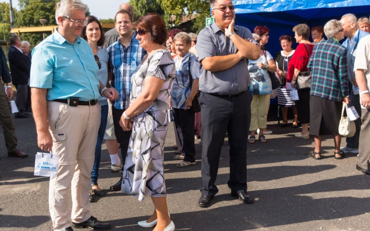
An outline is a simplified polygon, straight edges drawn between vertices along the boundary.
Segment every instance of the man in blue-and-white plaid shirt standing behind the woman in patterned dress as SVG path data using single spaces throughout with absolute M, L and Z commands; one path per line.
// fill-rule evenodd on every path
M 136 33 L 133 32 L 133 15 L 121 9 L 115 16 L 115 26 L 119 33 L 118 41 L 108 47 L 108 76 L 112 79 L 112 87 L 118 92 L 118 100 L 112 102 L 113 124 L 117 141 L 121 147 L 122 167 L 126 159 L 128 142 L 130 142 L 131 130 L 124 131 L 119 121 L 125 109 L 128 107 L 131 93 L 131 76 L 136 67 L 146 54 L 139 42 Z M 121 177 L 122 178 L 122 177 Z M 121 179 L 122 180 L 122 179 Z M 110 186 L 110 190 L 121 190 L 121 180 Z

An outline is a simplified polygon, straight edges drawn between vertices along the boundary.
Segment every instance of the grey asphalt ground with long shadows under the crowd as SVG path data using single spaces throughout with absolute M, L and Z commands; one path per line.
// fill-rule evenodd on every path
M 267 143 L 248 144 L 248 192 L 254 204 L 243 204 L 230 196 L 229 145 L 221 150 L 216 184 L 219 188 L 212 204 L 200 208 L 201 144 L 196 140 L 194 166 L 175 167 L 170 125 L 164 149 L 168 206 L 176 230 L 370 230 L 370 177 L 356 170 L 356 154 L 334 159 L 334 143 L 324 137 L 322 160 L 307 156 L 313 138 L 294 138 L 300 129 L 281 128 L 269 122 L 273 134 Z M 0 126 L 1 127 L 1 126 Z M 34 156 L 40 149 L 33 119 L 16 119 L 18 148 L 29 154 L 18 159 L 7 156 L 0 128 L 0 229 L 51 230 L 48 210 L 48 178 L 33 176 Z M 345 139 L 342 139 L 342 146 Z M 151 230 L 138 221 L 153 212 L 150 198 L 143 202 L 122 192 L 110 192 L 119 180 L 110 172 L 110 159 L 103 145 L 99 185 L 107 192 L 90 204 L 93 216 L 112 224 L 112 230 Z

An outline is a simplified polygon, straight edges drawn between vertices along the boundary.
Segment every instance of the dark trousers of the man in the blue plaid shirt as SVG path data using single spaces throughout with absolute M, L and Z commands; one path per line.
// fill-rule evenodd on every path
M 127 156 L 127 149 L 128 149 L 128 143 L 130 142 L 131 132 L 130 131 L 124 131 L 122 127 L 119 125 L 119 121 L 121 120 L 121 116 L 125 109 L 116 109 L 115 107 L 112 107 L 112 115 L 113 115 L 113 125 L 115 127 L 115 134 L 117 138 L 117 142 L 120 144 L 121 148 L 121 164 L 122 164 L 122 170 L 124 163 L 126 161 Z

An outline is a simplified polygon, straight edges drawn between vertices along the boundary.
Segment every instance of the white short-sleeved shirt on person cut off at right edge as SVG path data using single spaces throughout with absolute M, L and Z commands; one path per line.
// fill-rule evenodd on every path
M 367 90 L 370 89 L 370 35 L 361 38 L 357 45 L 357 54 L 354 71 L 363 69 L 366 79 Z M 360 95 L 361 102 L 361 95 Z M 361 105 L 361 108 L 365 108 Z

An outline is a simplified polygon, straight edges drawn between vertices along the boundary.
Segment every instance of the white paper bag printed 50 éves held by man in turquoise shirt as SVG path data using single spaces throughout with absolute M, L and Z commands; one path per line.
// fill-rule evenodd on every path
M 34 176 L 56 177 L 59 155 L 56 153 L 38 152 L 35 158 Z

